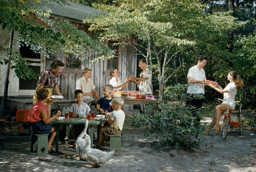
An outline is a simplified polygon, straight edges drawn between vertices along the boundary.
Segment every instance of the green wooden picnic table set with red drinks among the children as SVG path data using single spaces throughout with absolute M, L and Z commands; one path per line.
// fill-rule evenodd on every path
M 101 121 L 96 121 L 96 120 L 90 120 L 88 124 L 88 128 L 90 128 L 90 138 L 91 138 L 91 147 L 93 147 L 93 126 L 97 125 L 98 126 L 98 131 L 100 128 L 100 122 L 104 121 L 102 119 Z M 56 124 L 56 152 L 59 151 L 59 128 L 60 124 L 65 124 L 66 125 L 66 146 L 68 146 L 68 141 L 67 139 L 69 138 L 69 124 L 76 124 L 76 125 L 82 125 L 86 122 L 85 118 L 69 118 L 69 119 L 62 119 L 62 120 L 53 120 L 51 123 Z

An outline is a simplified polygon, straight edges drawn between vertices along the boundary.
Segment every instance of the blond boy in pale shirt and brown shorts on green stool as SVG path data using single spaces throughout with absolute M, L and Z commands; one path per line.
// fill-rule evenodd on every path
M 123 99 L 121 97 L 116 97 L 112 99 L 112 107 L 114 111 L 112 115 L 105 115 L 105 118 L 109 120 L 111 126 L 106 126 L 100 129 L 99 141 L 98 143 L 95 143 L 96 145 L 104 145 L 105 137 L 109 137 L 109 135 L 118 135 L 121 133 L 125 119 L 125 114 L 121 110 L 122 105 Z

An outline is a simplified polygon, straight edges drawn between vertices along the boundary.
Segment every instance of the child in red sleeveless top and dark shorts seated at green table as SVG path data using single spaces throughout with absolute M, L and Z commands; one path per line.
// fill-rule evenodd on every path
M 48 140 L 48 150 L 49 152 L 54 152 L 52 147 L 52 142 L 56 136 L 56 127 L 52 126 L 52 122 L 55 118 L 61 115 L 61 112 L 58 111 L 54 116 L 48 118 L 47 107 L 44 104 L 48 100 L 49 92 L 47 89 L 40 89 L 36 92 L 37 102 L 31 107 L 28 115 L 28 126 L 29 131 L 33 134 L 51 134 L 50 139 Z

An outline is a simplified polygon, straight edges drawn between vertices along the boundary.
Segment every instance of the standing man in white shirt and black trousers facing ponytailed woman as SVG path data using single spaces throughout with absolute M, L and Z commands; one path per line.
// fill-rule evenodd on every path
M 205 79 L 205 72 L 203 70 L 204 66 L 206 65 L 207 58 L 204 55 L 200 55 L 198 57 L 197 65 L 191 67 L 188 70 L 187 74 L 187 105 L 195 106 L 195 111 L 193 112 L 193 116 L 196 116 L 196 110 L 202 107 L 203 99 L 196 99 L 194 98 L 195 94 L 202 94 L 204 95 L 204 85 L 206 85 Z M 196 118 L 196 120 L 200 124 L 200 118 Z

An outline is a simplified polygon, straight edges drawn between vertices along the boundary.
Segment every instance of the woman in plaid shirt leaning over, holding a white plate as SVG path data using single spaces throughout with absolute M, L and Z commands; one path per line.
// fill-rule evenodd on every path
M 36 98 L 37 90 L 44 88 L 49 91 L 48 100 L 45 102 L 45 105 L 48 110 L 48 114 L 47 114 L 48 118 L 51 117 L 51 104 L 53 104 L 52 100 L 55 100 L 51 98 L 52 96 L 51 88 L 53 88 L 53 90 L 57 95 L 61 96 L 61 93 L 58 89 L 58 81 L 59 81 L 59 75 L 62 72 L 65 64 L 60 60 L 55 60 L 51 63 L 50 66 L 51 66 L 51 69 L 41 72 L 37 81 L 37 87 L 35 89 L 35 93 L 33 97 L 33 104 L 35 104 L 37 102 L 37 98 Z

